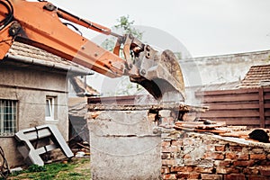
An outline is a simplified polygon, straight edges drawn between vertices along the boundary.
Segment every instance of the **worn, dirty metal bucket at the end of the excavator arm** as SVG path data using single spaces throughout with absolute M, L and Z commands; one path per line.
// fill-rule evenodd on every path
M 146 45 L 135 58 L 139 76 L 131 82 L 142 85 L 159 102 L 184 102 L 184 78 L 181 67 L 171 50 L 158 52 Z

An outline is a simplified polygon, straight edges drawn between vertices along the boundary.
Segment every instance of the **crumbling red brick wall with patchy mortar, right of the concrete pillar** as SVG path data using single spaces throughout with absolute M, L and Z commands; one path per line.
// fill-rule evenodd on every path
M 179 130 L 162 134 L 163 179 L 270 179 L 270 145 Z

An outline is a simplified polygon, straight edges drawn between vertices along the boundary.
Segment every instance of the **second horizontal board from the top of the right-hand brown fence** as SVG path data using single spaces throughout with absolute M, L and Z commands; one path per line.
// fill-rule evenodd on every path
M 220 102 L 249 102 L 257 101 L 258 94 L 238 94 L 238 95 L 215 95 L 203 97 L 203 103 L 220 103 Z

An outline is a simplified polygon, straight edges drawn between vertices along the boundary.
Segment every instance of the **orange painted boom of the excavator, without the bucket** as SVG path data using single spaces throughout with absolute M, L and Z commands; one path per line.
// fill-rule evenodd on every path
M 1 32 L 0 41 L 4 43 L 0 44 L 0 58 L 4 58 L 7 50 L 16 40 L 47 50 L 106 76 L 113 77 L 124 74 L 124 59 L 70 30 L 59 20 L 59 16 L 105 34 L 110 34 L 110 29 L 76 18 L 48 2 L 23 0 L 1 2 L 6 2 L 6 5 L 13 10 L 13 19 Z M 2 15 L 1 19 L 4 20 L 8 9 L 4 7 L 4 4 L 1 5 L 0 15 Z

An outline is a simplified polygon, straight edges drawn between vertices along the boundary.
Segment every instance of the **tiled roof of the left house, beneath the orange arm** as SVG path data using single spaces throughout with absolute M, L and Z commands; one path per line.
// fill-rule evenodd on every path
M 7 58 L 25 64 L 65 70 L 79 75 L 93 74 L 93 71 L 89 68 L 80 66 L 72 61 L 68 61 L 65 58 L 60 58 L 45 50 L 17 41 L 14 41 L 11 49 L 9 49 Z

